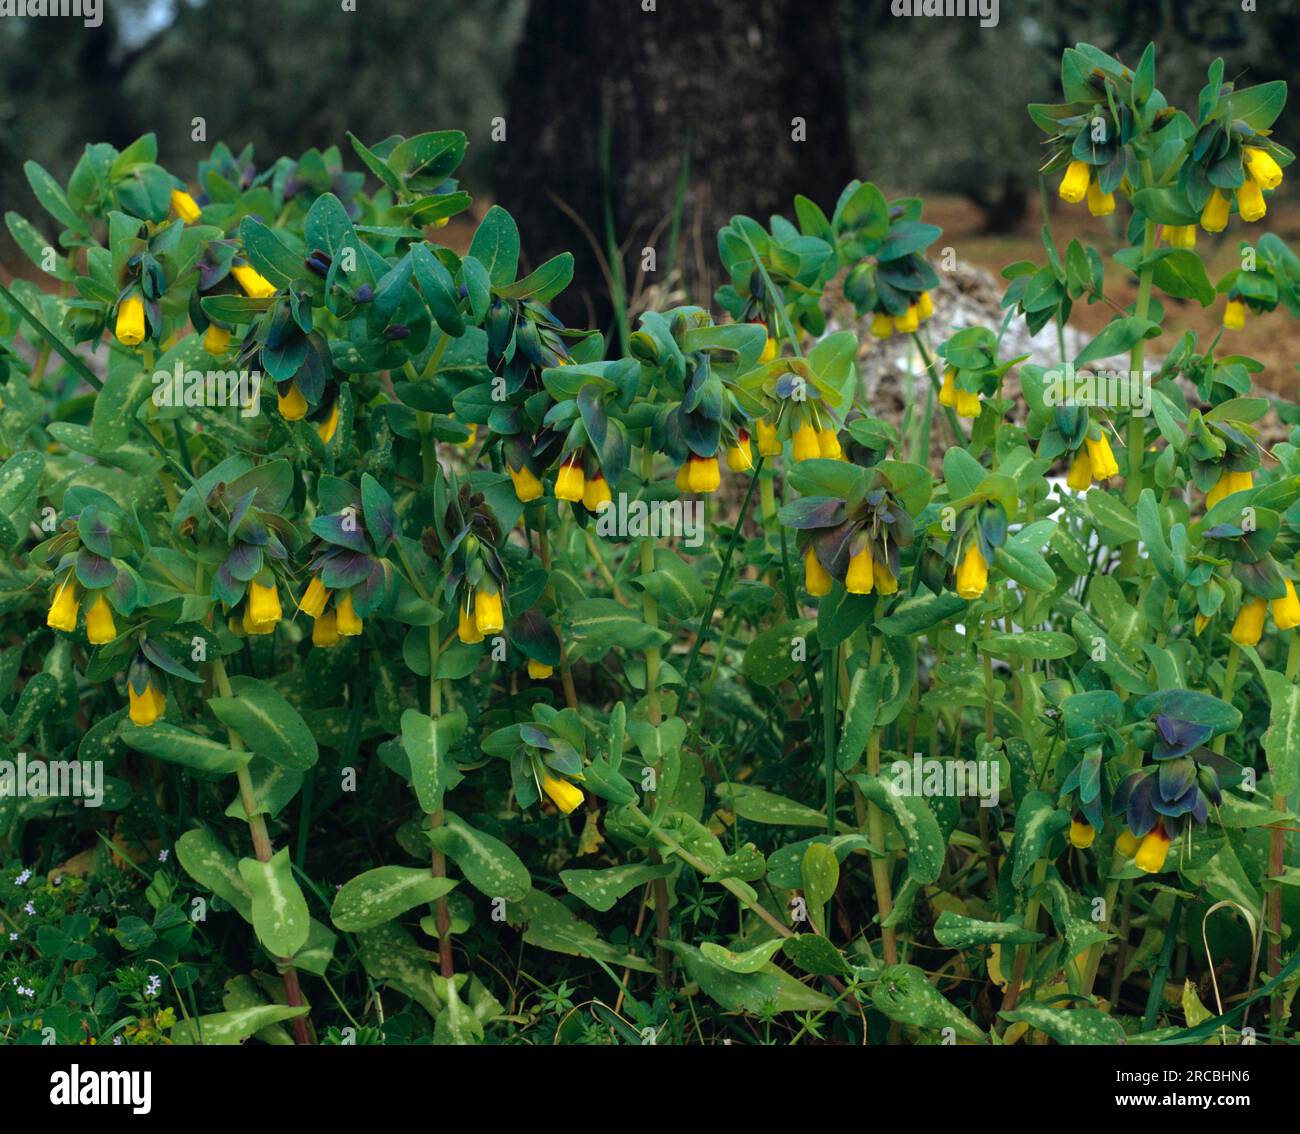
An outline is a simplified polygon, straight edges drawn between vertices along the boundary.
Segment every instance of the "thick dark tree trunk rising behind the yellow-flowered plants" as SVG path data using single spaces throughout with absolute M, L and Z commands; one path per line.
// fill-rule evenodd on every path
M 593 248 L 606 252 L 606 203 L 628 291 L 659 285 L 654 303 L 663 303 L 675 267 L 673 299 L 707 304 L 725 282 L 722 225 L 736 213 L 793 217 L 800 192 L 829 211 L 854 176 L 837 5 L 654 0 L 647 12 L 650 3 L 534 0 L 507 91 L 497 200 L 519 221 L 529 265 L 575 254 L 575 285 L 556 307 L 576 324 L 606 326 L 612 312 Z M 653 272 L 642 272 L 645 248 L 655 251 Z

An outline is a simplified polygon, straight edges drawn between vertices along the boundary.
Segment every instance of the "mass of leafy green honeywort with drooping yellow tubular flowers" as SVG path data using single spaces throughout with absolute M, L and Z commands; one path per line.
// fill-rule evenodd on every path
M 503 209 L 438 242 L 458 131 L 29 163 L 61 233 L 6 217 L 48 278 L 0 316 L 0 735 L 109 791 L 0 797 L 16 874 L 105 823 L 174 849 L 208 968 L 174 1042 L 1284 1039 L 1300 438 L 1260 423 L 1300 411 L 1225 336 L 1300 272 L 1264 235 L 1216 284 L 1196 242 L 1264 218 L 1286 90 L 1216 62 L 1187 112 L 1153 48 L 1080 44 L 1062 99 L 1044 173 L 1127 244 L 1045 228 L 1001 325 L 941 342 L 940 230 L 870 182 L 734 217 L 718 312 L 621 350 Z M 1070 358 L 1080 299 L 1112 319 Z M 1060 367 L 1005 355 L 1018 317 Z M 893 336 L 930 380 L 901 430 L 857 369 Z M 16 932 L 20 990 L 58 932 Z

